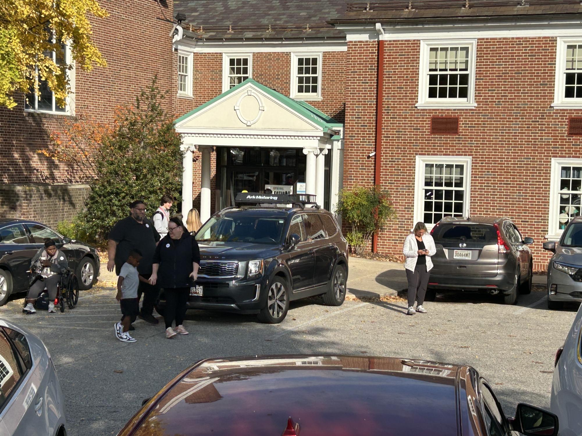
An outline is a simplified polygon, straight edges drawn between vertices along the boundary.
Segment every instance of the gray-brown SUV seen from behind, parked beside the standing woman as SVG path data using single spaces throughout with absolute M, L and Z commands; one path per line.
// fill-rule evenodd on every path
M 436 292 L 473 291 L 501 294 L 514 304 L 518 294 L 531 292 L 533 267 L 528 244 L 506 217 L 445 217 L 431 230 L 437 246 L 432 256 L 427 297 Z

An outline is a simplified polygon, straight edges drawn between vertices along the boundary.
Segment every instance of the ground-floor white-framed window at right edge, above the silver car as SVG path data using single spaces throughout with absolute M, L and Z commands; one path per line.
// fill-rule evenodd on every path
M 552 158 L 548 235 L 558 240 L 575 216 L 582 215 L 582 159 Z

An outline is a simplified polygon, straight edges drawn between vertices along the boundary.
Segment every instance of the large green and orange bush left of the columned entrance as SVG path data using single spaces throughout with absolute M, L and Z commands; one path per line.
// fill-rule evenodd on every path
M 167 92 L 167 91 L 166 91 Z M 180 202 L 182 157 L 180 135 L 174 117 L 161 106 L 164 94 L 156 80 L 142 91 L 133 106 L 116 110 L 111 126 L 76 123 L 47 155 L 72 162 L 91 174 L 84 210 L 73 224 L 63 224 L 69 234 L 86 235 L 87 242 L 101 244 L 116 221 L 129 215 L 134 200 L 145 202 L 148 217 L 162 195 Z

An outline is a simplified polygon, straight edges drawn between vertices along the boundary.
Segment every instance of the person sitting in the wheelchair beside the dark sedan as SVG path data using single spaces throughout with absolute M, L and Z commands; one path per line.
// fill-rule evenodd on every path
M 22 309 L 23 313 L 36 313 L 34 309 L 34 302 L 42 294 L 45 288 L 48 291 L 48 311 L 55 311 L 56 289 L 61 281 L 61 277 L 69 269 L 69 263 L 62 251 L 56 249 L 55 241 L 46 239 L 44 241 L 44 248 L 38 250 L 31 260 L 31 269 L 41 271 L 42 279 L 33 283 L 29 289 L 29 294 L 26 297 L 26 306 Z

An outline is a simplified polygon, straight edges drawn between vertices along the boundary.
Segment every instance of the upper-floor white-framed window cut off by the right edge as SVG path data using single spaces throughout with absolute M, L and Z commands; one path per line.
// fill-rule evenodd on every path
M 582 109 L 582 38 L 558 38 L 552 107 Z

